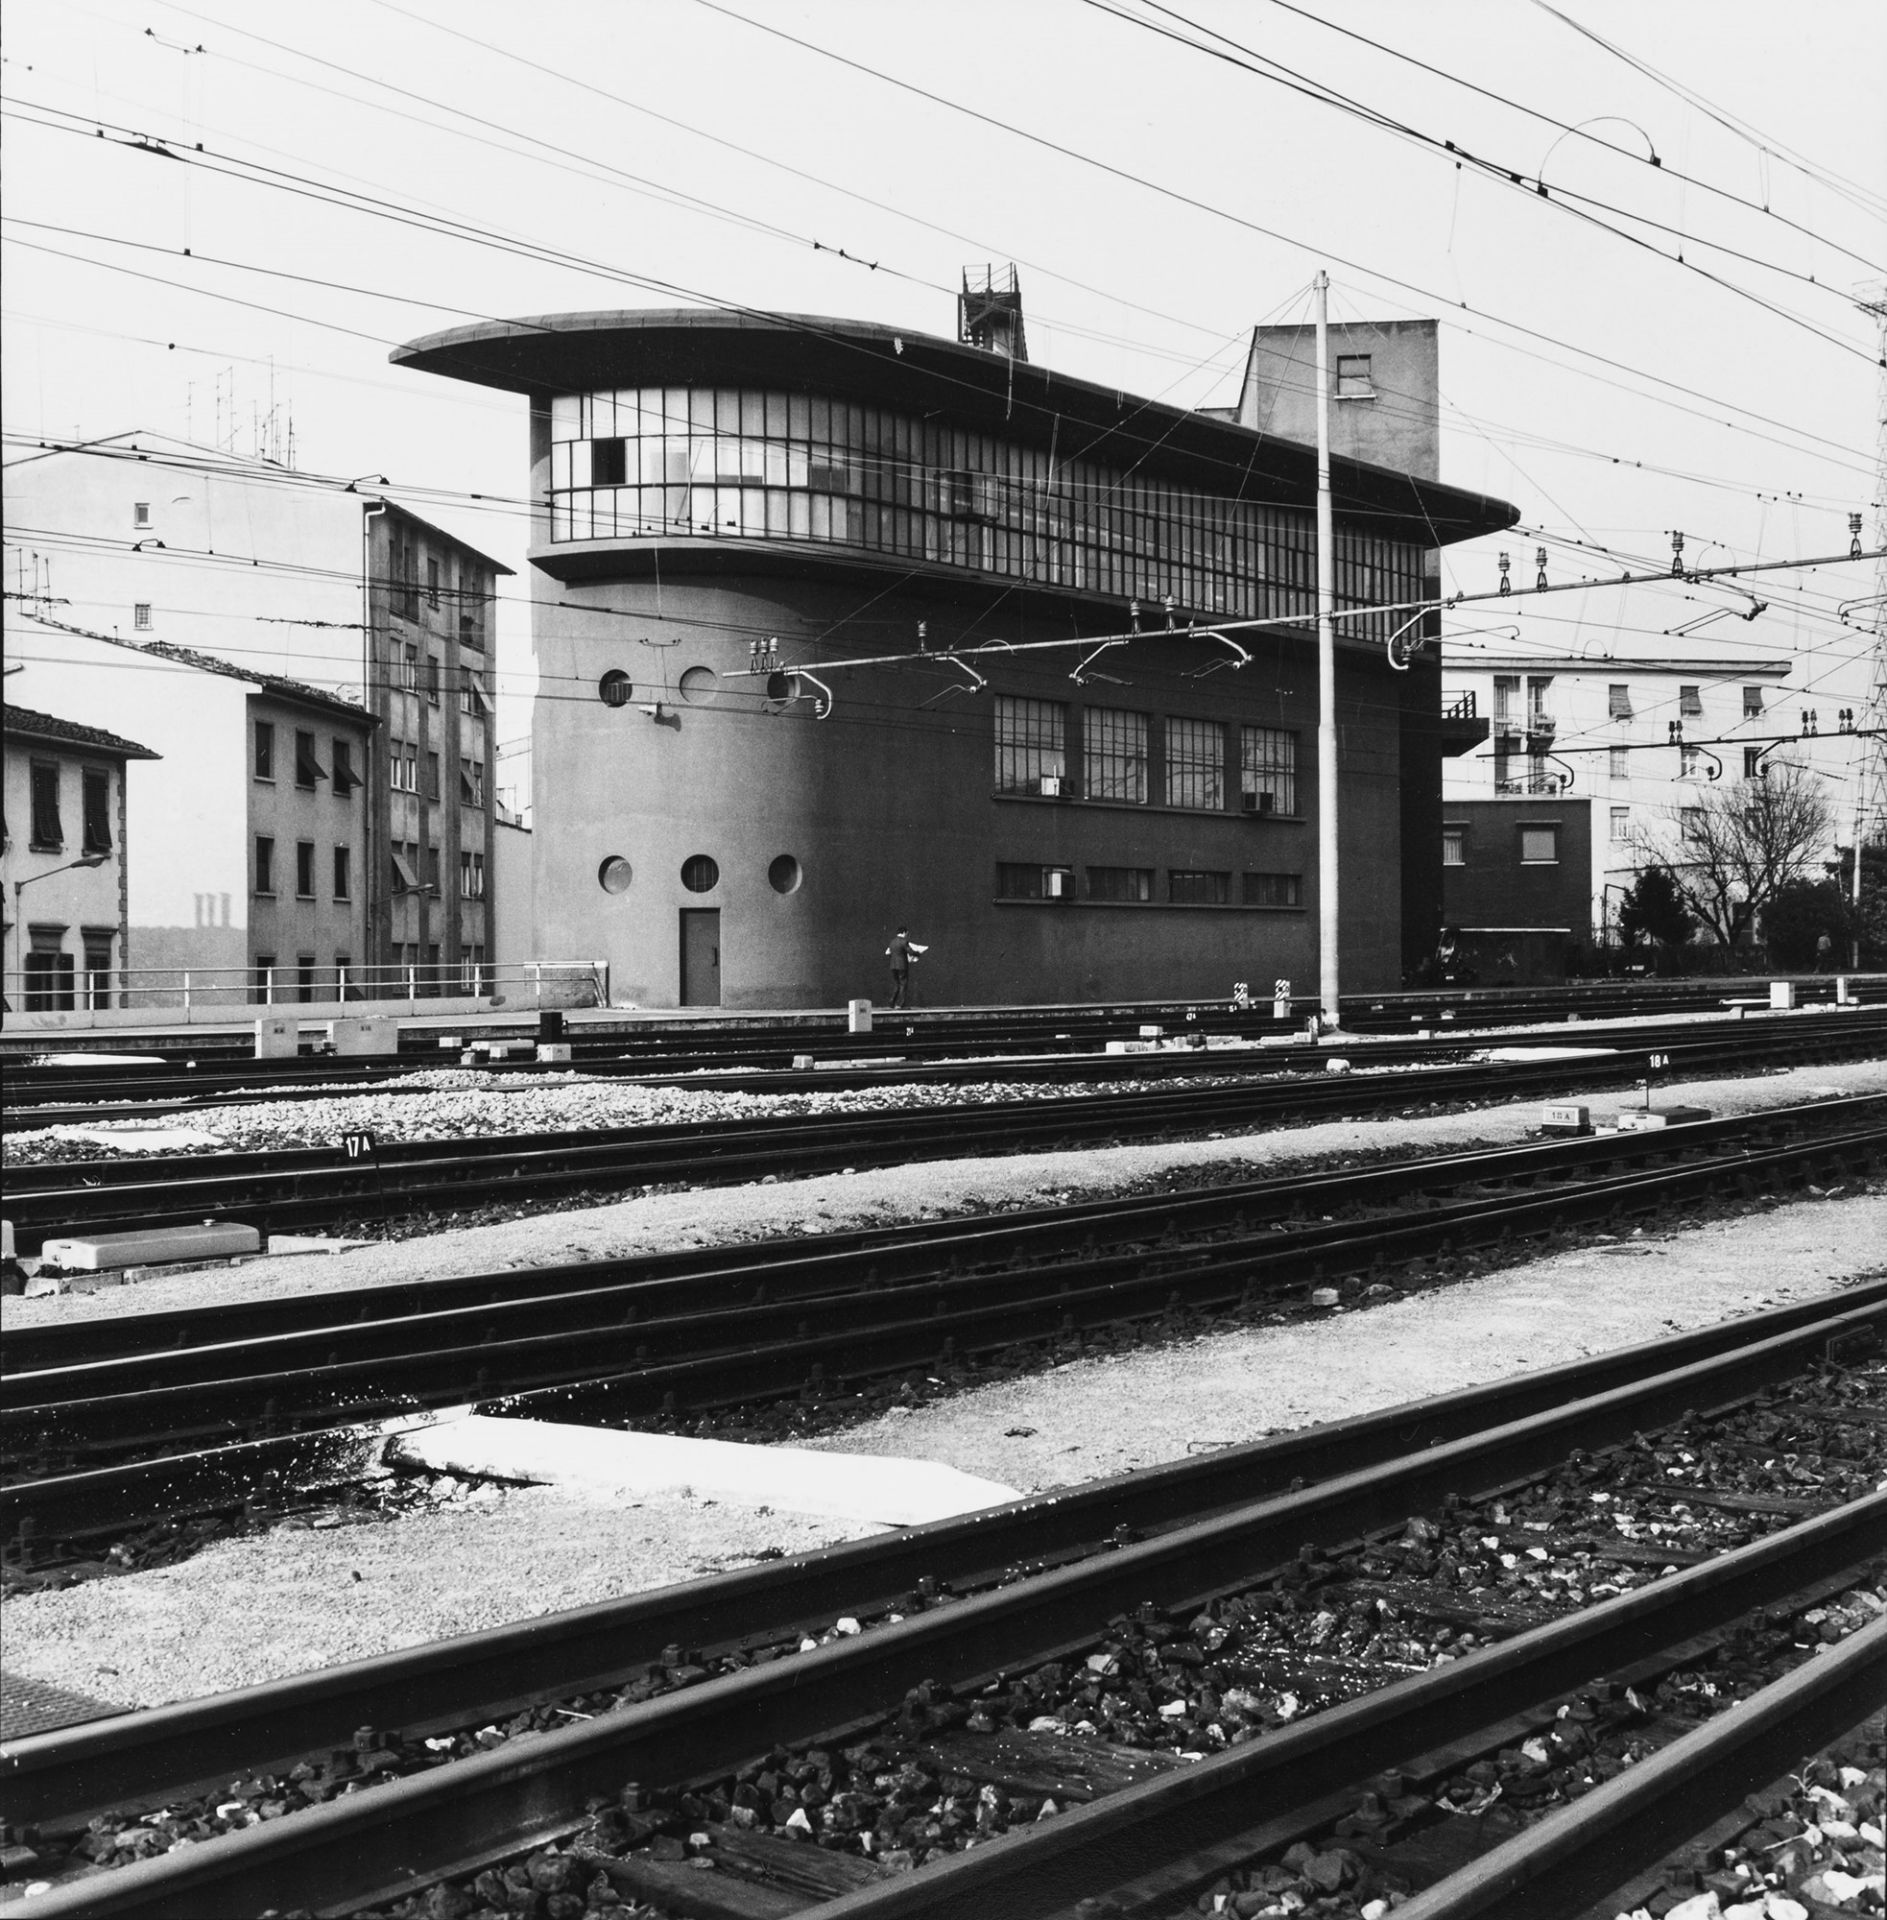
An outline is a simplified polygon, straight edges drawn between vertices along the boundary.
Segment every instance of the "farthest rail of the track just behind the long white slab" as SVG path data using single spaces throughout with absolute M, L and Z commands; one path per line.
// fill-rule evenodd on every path
M 979 1213 L 967 1219 L 912 1221 L 896 1227 L 793 1235 L 733 1246 L 683 1248 L 609 1260 L 564 1261 L 545 1267 L 497 1269 L 390 1286 L 353 1286 L 290 1294 L 275 1300 L 228 1300 L 207 1308 L 98 1315 L 19 1327 L 0 1354 L 0 1380 L 56 1367 L 84 1367 L 125 1357 L 150 1359 L 169 1377 L 225 1371 L 255 1340 L 278 1340 L 313 1331 L 357 1336 L 374 1321 L 447 1311 L 507 1313 L 520 1306 L 555 1313 L 559 1302 L 614 1296 L 618 1308 L 685 1281 L 697 1308 L 754 1304 L 754 1277 L 766 1298 L 795 1300 L 848 1284 L 887 1284 L 935 1273 L 939 1263 L 996 1260 L 1040 1261 L 1069 1248 L 1092 1248 L 1098 1231 L 1119 1244 L 1135 1238 L 1175 1240 L 1225 1227 L 1290 1215 L 1315 1217 L 1325 1208 L 1451 1192 L 1469 1185 L 1505 1185 L 1557 1173 L 1578 1173 L 1611 1162 L 1662 1162 L 1701 1148 L 1749 1144 L 1766 1137 L 1820 1133 L 1870 1119 L 1887 1110 L 1887 1092 L 1849 1094 L 1795 1106 L 1762 1108 L 1730 1119 L 1693 1121 L 1678 1129 L 1636 1135 L 1588 1135 L 1499 1148 L 1469 1148 L 1397 1160 L 1382 1165 L 1284 1173 L 1165 1194 L 1127 1194 L 1023 1213 Z M 188 1361 L 215 1348 L 213 1361 Z M 188 1369 L 182 1373 L 180 1369 Z

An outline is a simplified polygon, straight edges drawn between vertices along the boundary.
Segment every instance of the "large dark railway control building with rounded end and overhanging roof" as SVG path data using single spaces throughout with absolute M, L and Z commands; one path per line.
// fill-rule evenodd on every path
M 850 321 L 562 315 L 395 361 L 532 399 L 536 925 L 618 1004 L 883 1000 L 900 925 L 927 1004 L 1313 985 L 1302 447 Z M 1436 528 L 1511 516 L 1351 463 L 1340 595 L 1421 605 Z M 1340 647 L 1353 991 L 1440 924 L 1405 618 Z

